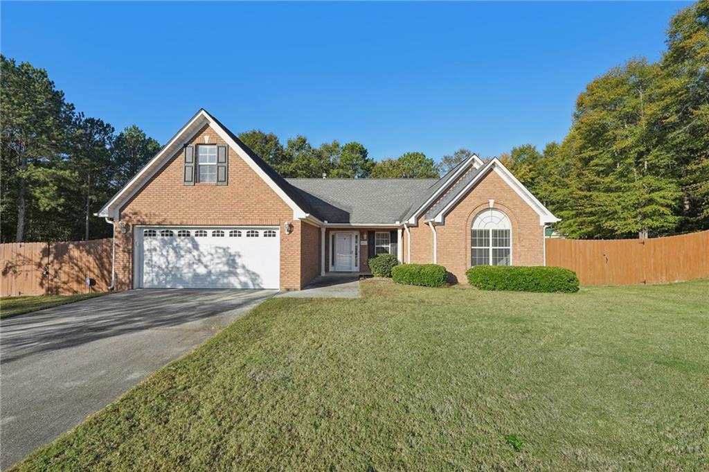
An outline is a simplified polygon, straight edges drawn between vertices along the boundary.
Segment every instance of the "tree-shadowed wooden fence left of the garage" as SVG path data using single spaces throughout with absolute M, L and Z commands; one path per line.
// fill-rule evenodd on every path
M 111 285 L 111 251 L 111 238 L 0 244 L 0 295 L 105 292 Z

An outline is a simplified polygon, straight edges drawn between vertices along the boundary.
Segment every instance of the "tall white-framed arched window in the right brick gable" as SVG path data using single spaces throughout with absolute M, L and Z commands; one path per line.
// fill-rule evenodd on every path
M 470 229 L 470 265 L 511 265 L 512 224 L 498 209 L 477 214 Z

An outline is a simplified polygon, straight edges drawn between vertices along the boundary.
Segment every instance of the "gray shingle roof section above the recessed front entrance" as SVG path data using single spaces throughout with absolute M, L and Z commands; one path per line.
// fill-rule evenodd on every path
M 439 179 L 286 179 L 318 219 L 329 223 L 403 221 Z M 435 190 L 434 190 L 435 191 Z M 423 199 L 423 200 L 422 200 Z M 416 207 L 412 208 L 414 205 Z

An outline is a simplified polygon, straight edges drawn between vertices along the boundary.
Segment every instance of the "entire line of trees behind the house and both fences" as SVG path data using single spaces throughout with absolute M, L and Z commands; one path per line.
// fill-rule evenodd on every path
M 631 59 L 589 83 L 560 143 L 497 156 L 562 218 L 565 236 L 709 228 L 709 0 L 671 18 L 666 45 L 658 62 Z M 93 213 L 160 145 L 138 126 L 116 134 L 77 112 L 47 72 L 27 62 L 1 57 L 0 84 L 1 240 L 110 236 Z M 472 154 L 375 161 L 357 142 L 316 147 L 298 135 L 283 145 L 260 130 L 239 138 L 284 177 L 439 177 Z

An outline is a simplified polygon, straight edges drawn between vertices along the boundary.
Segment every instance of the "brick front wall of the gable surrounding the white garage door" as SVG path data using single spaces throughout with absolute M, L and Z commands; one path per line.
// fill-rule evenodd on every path
M 189 144 L 204 143 L 206 135 L 210 144 L 226 144 L 208 126 Z M 120 221 L 128 224 L 129 231 L 122 234 L 116 226 L 117 289 L 133 287 L 133 227 L 138 224 L 279 226 L 281 290 L 300 289 L 312 268 L 301 268 L 301 241 L 305 236 L 301 234 L 301 222 L 293 220 L 293 211 L 286 202 L 233 149 L 229 149 L 229 182 L 225 186 L 183 185 L 183 156 L 182 150 L 173 155 L 121 209 Z M 294 225 L 291 234 L 283 231 L 285 221 Z

